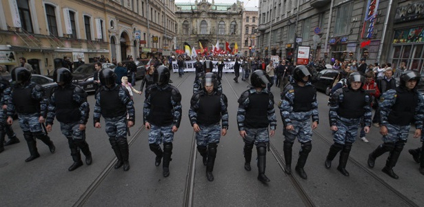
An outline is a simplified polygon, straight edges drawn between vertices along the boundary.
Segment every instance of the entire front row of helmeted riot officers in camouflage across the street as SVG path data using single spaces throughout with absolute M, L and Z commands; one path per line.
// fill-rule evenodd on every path
M 305 66 L 297 66 L 292 73 L 292 83 L 285 86 L 278 103 L 283 120 L 285 141 L 283 151 L 285 172 L 291 174 L 292 146 L 295 139 L 301 143 L 295 171 L 303 179 L 307 179 L 304 170 L 307 157 L 312 150 L 312 130 L 319 124 L 316 88 L 310 83 L 310 71 Z M 30 81 L 31 73 L 26 68 L 14 68 L 12 80 L 16 83 L 3 92 L 2 103 L 6 111 L 0 113 L 1 148 L 5 137 L 6 125 L 12 124 L 12 116 L 16 112 L 19 125 L 23 130 L 32 161 L 39 157 L 36 138 L 46 144 L 50 152 L 54 152 L 53 142 L 47 133 L 52 130 L 54 117 L 61 126 L 61 132 L 68 139 L 74 163 L 68 168 L 72 171 L 83 165 L 80 151 L 85 155 L 85 164 L 92 164 L 92 155 L 85 141 L 85 128 L 90 112 L 87 93 L 79 86 L 72 84 L 72 74 L 66 68 L 54 71 L 54 88 L 50 97 L 46 98 L 43 88 Z M 117 157 L 114 168 L 127 171 L 130 169 L 127 135 L 134 125 L 134 102 L 128 90 L 115 83 L 116 75 L 110 69 L 99 73 L 102 83 L 96 92 L 94 106 L 94 127 L 101 128 L 100 118 L 105 119 L 105 132 Z M 143 106 L 143 124 L 150 130 L 149 147 L 156 155 L 154 164 L 162 163 L 163 177 L 170 175 L 172 160 L 172 142 L 174 133 L 181 123 L 181 94 L 170 85 L 170 70 L 159 66 L 153 72 L 154 84 L 145 91 Z M 367 164 L 374 167 L 377 157 L 389 152 L 383 172 L 398 179 L 393 168 L 396 165 L 403 146 L 407 141 L 411 124 L 415 124 L 414 138 L 421 134 L 424 119 L 424 98 L 417 92 L 416 86 L 421 77 L 414 70 L 407 70 L 401 76 L 400 86 L 383 93 L 380 100 L 381 123 L 380 133 L 383 144 L 370 153 Z M 266 152 L 269 141 L 276 130 L 274 97 L 266 89 L 271 79 L 263 70 L 256 70 L 250 77 L 248 90 L 241 93 L 237 110 L 237 127 L 243 138 L 243 155 L 245 170 L 252 170 L 252 149 L 256 146 L 258 179 L 264 183 L 270 179 L 265 175 Z M 361 72 L 353 72 L 347 78 L 347 87 L 336 90 L 330 97 L 330 128 L 333 132 L 334 144 L 325 159 L 325 168 L 331 168 L 332 160 L 340 152 L 337 170 L 349 176 L 346 170 L 347 159 L 352 149 L 359 126 L 363 124 L 365 132 L 370 131 L 372 109 L 370 95 L 363 90 L 365 77 Z M 190 100 L 188 115 L 196 132 L 197 150 L 206 166 L 206 177 L 213 181 L 214 161 L 221 136 L 228 130 L 228 100 L 222 92 L 222 86 L 214 73 L 208 72 L 196 78 L 194 94 Z M 312 119 L 312 121 L 311 121 Z M 46 124 L 46 126 L 44 125 Z M 45 126 L 45 127 L 44 127 Z M 44 128 L 44 130 L 43 130 Z M 161 147 L 163 144 L 163 148 Z M 414 160 L 420 163 L 419 172 L 424 175 L 424 155 L 422 147 L 410 150 Z

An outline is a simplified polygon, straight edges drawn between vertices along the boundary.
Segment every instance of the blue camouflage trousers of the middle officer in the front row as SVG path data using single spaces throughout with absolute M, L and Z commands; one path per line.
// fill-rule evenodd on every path
M 196 132 L 197 146 L 208 146 L 210 143 L 219 143 L 221 138 L 221 125 L 212 124 L 210 126 L 199 125 L 200 132 Z

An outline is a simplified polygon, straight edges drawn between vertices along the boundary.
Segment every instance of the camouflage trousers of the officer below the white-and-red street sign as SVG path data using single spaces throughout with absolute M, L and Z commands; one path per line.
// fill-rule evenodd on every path
M 302 121 L 292 119 L 293 130 L 284 130 L 285 141 L 294 142 L 294 139 L 299 140 L 301 143 L 312 141 L 312 126 L 311 119 L 305 119 Z

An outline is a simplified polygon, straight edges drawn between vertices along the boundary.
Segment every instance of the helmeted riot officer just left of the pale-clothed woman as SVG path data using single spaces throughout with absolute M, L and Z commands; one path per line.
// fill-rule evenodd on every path
M 100 117 L 105 117 L 105 130 L 109 142 L 118 158 L 114 168 L 123 166 L 124 171 L 130 170 L 128 158 L 127 133 L 134 126 L 134 102 L 125 86 L 116 83 L 117 75 L 106 68 L 100 71 L 101 88 L 96 94 L 94 106 L 94 127 L 101 128 Z M 127 118 L 128 115 L 128 118 Z

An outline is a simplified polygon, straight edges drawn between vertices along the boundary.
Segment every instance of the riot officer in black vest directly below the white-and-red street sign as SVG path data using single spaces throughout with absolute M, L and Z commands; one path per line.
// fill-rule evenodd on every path
M 303 179 L 307 179 L 303 167 L 312 150 L 312 130 L 318 126 L 319 122 L 316 88 L 310 83 L 310 77 L 311 74 L 306 66 L 294 68 L 293 79 L 296 82 L 285 87 L 285 92 L 281 93 L 279 102 L 281 119 L 285 126 L 283 128 L 285 172 L 291 174 L 292 146 L 297 137 L 301 143 L 301 150 L 295 170 Z M 310 124 L 311 117 L 312 126 Z

